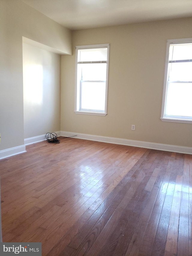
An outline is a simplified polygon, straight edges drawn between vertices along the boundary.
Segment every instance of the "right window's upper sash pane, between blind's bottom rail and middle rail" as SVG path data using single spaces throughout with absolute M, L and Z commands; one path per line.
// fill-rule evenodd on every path
M 170 81 L 192 81 L 192 62 L 169 63 Z

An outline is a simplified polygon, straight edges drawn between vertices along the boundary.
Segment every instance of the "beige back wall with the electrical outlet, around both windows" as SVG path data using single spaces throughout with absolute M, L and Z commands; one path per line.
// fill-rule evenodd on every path
M 191 28 L 187 18 L 74 31 L 73 55 L 61 57 L 61 131 L 191 147 L 191 124 L 160 120 L 167 39 L 191 38 Z M 75 114 L 75 46 L 103 43 L 110 43 L 108 114 Z

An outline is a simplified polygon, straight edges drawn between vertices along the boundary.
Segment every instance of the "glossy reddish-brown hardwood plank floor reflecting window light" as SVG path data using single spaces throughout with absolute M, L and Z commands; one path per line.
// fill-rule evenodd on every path
M 42 255 L 192 255 L 192 155 L 75 138 L 0 161 L 3 242 Z

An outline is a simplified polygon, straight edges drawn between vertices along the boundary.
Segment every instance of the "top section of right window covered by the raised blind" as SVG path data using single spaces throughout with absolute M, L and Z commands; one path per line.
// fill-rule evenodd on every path
M 192 59 L 191 43 L 170 45 L 169 60 L 181 60 L 181 59 Z

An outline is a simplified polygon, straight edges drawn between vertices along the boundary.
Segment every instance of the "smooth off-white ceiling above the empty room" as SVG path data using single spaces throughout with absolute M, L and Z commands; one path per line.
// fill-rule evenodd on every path
M 22 0 L 72 30 L 192 17 L 192 0 Z

